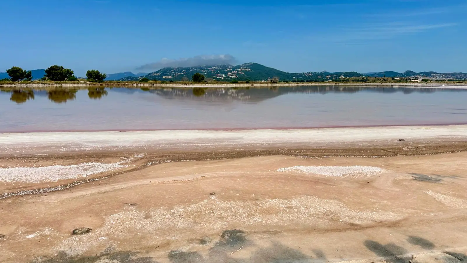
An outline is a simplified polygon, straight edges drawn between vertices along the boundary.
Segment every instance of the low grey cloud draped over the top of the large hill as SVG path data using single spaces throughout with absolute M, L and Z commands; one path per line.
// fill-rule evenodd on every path
M 236 59 L 232 55 L 200 55 L 192 58 L 162 58 L 161 60 L 139 66 L 138 70 L 157 70 L 164 67 L 188 67 L 188 66 L 214 66 L 219 64 L 235 64 Z

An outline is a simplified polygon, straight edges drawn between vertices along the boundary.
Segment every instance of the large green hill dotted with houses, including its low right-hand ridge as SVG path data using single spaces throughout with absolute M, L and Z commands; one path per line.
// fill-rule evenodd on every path
M 165 67 L 156 72 L 145 75 L 149 80 L 182 80 L 186 77 L 191 79 L 194 73 L 201 73 L 206 78 L 215 80 L 253 80 L 262 81 L 272 78 L 279 80 L 335 80 L 341 76 L 360 77 L 357 72 L 321 72 L 321 73 L 287 73 L 272 67 L 260 65 L 258 63 L 245 63 L 238 66 L 217 65 L 217 66 L 195 66 L 195 67 Z M 128 76 L 120 80 L 138 80 L 138 77 Z

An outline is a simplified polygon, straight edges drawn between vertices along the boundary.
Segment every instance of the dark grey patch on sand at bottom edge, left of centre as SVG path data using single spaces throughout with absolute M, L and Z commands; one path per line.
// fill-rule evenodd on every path
M 96 256 L 67 256 L 64 252 L 57 256 L 41 261 L 41 263 L 96 263 L 96 262 L 114 262 L 114 263 L 157 263 L 152 257 L 140 257 L 135 252 L 115 252 L 112 254 L 102 253 Z

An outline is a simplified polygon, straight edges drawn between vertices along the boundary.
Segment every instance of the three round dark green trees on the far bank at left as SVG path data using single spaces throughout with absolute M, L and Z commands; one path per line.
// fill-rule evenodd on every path
M 18 66 L 7 69 L 7 74 L 10 77 L 10 80 L 14 82 L 32 80 L 32 72 L 23 70 Z M 107 75 L 105 73 L 100 73 L 99 70 L 92 69 L 86 72 L 86 77 L 87 80 L 91 82 L 103 82 Z M 78 81 L 78 78 L 75 77 L 74 72 L 71 69 L 64 68 L 64 66 L 54 65 L 45 70 L 45 75 L 41 80 Z

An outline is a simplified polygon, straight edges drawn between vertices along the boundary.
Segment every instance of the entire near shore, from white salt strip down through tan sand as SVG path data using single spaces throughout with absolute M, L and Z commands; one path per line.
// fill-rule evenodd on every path
M 466 133 L 1 134 L 0 262 L 462 262 Z

